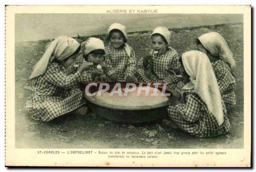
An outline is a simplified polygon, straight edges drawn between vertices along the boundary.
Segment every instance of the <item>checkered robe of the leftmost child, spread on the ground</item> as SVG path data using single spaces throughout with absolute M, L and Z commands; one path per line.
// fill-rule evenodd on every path
M 32 96 L 25 109 L 35 120 L 50 121 L 85 105 L 78 83 L 84 78 L 79 72 L 68 74 L 58 63 L 52 62 L 45 74 L 31 82 Z

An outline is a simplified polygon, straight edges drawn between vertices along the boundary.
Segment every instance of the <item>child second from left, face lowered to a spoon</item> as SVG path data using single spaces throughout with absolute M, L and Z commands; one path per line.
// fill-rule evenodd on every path
M 104 63 L 105 47 L 103 41 L 99 38 L 88 38 L 81 44 L 80 52 L 82 54 L 74 62 L 72 73 L 76 72 L 83 63 L 89 62 L 93 64 L 89 70 L 82 74 L 80 82 L 108 81 L 108 77 L 104 74 L 106 73 L 106 67 Z

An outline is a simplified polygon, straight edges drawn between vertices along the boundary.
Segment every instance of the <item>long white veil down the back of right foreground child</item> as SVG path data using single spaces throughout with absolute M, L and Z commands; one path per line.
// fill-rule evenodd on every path
M 224 121 L 220 90 L 209 58 L 201 51 L 192 50 L 182 54 L 182 63 L 190 76 L 190 81 L 183 89 L 194 89 L 205 102 L 218 124 Z

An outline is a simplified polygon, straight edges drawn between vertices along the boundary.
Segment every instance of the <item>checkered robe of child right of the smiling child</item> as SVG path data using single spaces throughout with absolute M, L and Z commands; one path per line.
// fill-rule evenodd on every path
M 177 51 L 170 47 L 170 49 L 164 54 L 158 56 L 153 53 L 154 50 L 149 52 L 150 59 L 148 66 L 142 68 L 142 61 L 138 64 L 136 71 L 136 77 L 141 82 L 166 82 L 170 89 L 175 89 L 176 84 L 180 81 L 180 78 L 170 72 L 170 67 L 180 69 L 179 55 Z

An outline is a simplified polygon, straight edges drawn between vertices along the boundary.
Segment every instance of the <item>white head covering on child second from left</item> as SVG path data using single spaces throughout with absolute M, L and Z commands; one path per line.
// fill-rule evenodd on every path
M 84 53 L 85 55 L 89 54 L 90 52 L 92 52 L 93 50 L 104 50 L 105 51 L 105 47 L 104 47 L 104 43 L 103 41 L 101 41 L 99 38 L 88 38 L 86 41 L 84 41 L 81 44 L 81 50 L 80 52 Z

